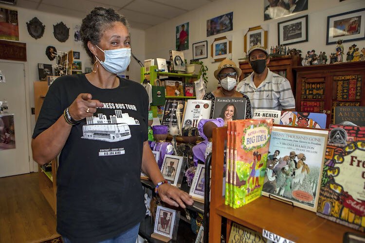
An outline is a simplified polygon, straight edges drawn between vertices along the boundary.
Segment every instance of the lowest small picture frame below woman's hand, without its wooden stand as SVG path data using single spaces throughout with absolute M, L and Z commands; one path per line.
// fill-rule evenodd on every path
M 168 239 L 172 239 L 176 218 L 176 210 L 157 206 L 155 226 L 153 234 L 162 235 Z

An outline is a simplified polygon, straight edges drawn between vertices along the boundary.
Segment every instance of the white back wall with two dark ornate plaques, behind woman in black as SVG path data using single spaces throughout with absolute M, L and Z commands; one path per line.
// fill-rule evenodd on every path
M 55 15 L 45 12 L 40 12 L 36 10 L 30 10 L 20 7 L 13 7 L 9 5 L 1 5 L 0 7 L 7 9 L 18 10 L 18 26 L 19 26 L 19 42 L 26 43 L 27 48 L 27 62 L 25 62 L 25 81 L 26 81 L 26 99 L 27 99 L 27 110 L 28 114 L 28 132 L 29 141 L 31 140 L 31 136 L 33 134 L 33 129 L 35 126 L 35 116 L 30 115 L 31 107 L 34 107 L 34 88 L 33 82 L 38 81 L 38 63 L 44 64 L 55 64 L 54 61 L 50 61 L 46 56 L 46 48 L 47 46 L 55 46 L 57 51 L 67 52 L 73 50 L 75 52 L 80 52 L 80 60 L 82 62 L 82 70 L 85 71 L 85 67 L 91 67 L 91 63 L 89 60 L 89 56 L 85 52 L 82 47 L 81 42 L 75 42 L 73 40 L 73 29 L 74 26 L 81 25 L 82 18 L 84 16 L 80 16 L 80 18 Z M 44 34 L 39 39 L 34 39 L 28 33 L 26 22 L 29 22 L 33 17 L 37 17 L 46 27 Z M 56 40 L 53 34 L 53 25 L 63 22 L 66 24 L 68 28 L 70 28 L 70 37 L 66 42 L 59 42 Z M 131 35 L 131 44 L 132 44 L 132 52 L 139 58 L 140 60 L 145 59 L 145 32 L 143 30 L 138 29 L 130 29 Z M 7 61 L 7 60 L 6 60 Z M 136 82 L 140 82 L 140 66 L 134 59 L 131 59 L 129 71 L 127 71 L 127 75 L 131 80 L 135 80 Z M 2 98 L 2 97 L 0 97 Z M 6 97 L 4 97 L 6 98 Z M 9 104 L 11 105 L 11 104 Z M 29 143 L 30 148 L 30 143 Z M 31 150 L 30 156 L 32 157 Z M 34 166 L 37 168 L 37 166 Z M 32 171 L 32 168 L 31 168 Z

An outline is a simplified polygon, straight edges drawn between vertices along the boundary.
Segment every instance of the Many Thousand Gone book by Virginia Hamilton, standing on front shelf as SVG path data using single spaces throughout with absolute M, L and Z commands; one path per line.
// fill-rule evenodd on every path
M 316 211 L 328 131 L 274 126 L 262 195 Z

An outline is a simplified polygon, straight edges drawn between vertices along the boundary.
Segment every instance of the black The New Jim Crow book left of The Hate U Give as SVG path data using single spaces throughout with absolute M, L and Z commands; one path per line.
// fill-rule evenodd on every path
M 168 126 L 168 132 L 173 126 L 181 129 L 183 127 L 183 114 L 185 112 L 186 101 L 182 100 L 166 100 L 164 106 L 164 115 L 162 117 L 161 124 Z

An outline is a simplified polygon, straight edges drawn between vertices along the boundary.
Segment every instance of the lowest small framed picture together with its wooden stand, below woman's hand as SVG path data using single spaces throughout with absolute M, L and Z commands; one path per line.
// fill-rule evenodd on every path
M 168 242 L 176 237 L 180 212 L 171 208 L 157 206 L 155 225 L 153 227 L 152 238 Z

